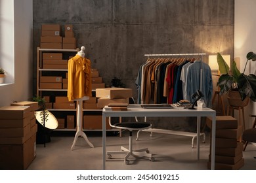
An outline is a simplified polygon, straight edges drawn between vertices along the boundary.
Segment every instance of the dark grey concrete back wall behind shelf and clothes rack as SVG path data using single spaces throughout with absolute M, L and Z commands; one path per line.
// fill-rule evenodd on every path
M 86 47 L 104 82 L 121 78 L 135 99 L 144 54 L 234 56 L 234 0 L 34 0 L 33 93 L 42 24 L 73 24 L 77 47 Z

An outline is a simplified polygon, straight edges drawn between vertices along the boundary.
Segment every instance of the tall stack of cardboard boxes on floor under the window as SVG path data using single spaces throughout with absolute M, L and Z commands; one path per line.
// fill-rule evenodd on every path
M 27 169 L 36 156 L 37 102 L 0 108 L 0 169 Z

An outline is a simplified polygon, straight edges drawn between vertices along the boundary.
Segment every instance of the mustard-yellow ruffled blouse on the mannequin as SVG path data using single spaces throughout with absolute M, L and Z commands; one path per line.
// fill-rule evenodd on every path
M 68 100 L 91 97 L 91 61 L 75 55 L 68 60 Z

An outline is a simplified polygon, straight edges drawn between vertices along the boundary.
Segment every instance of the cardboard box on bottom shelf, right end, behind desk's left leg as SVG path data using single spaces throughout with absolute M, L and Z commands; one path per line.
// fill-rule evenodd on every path
M 102 116 L 83 116 L 83 129 L 102 129 Z M 111 129 L 108 120 L 106 120 L 106 129 Z

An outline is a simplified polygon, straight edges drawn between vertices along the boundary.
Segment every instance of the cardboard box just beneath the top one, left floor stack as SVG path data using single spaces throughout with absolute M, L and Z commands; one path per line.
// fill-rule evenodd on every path
M 0 119 L 0 128 L 7 128 L 7 127 L 25 127 L 26 125 L 30 124 L 30 116 L 27 116 L 23 119 Z

